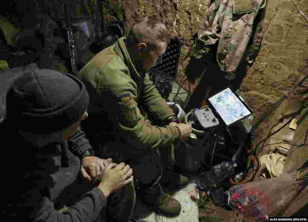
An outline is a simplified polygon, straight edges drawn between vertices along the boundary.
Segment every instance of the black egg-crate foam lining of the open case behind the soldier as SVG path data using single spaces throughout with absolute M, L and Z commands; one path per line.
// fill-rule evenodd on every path
M 150 80 L 165 99 L 171 93 L 173 80 L 177 76 L 182 46 L 183 42 L 179 38 L 170 38 L 162 63 L 152 67 L 149 72 Z

